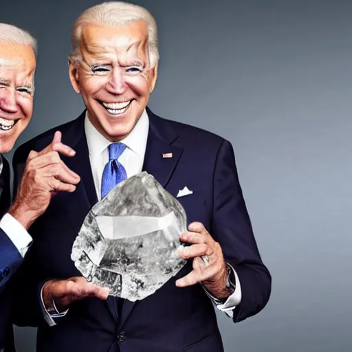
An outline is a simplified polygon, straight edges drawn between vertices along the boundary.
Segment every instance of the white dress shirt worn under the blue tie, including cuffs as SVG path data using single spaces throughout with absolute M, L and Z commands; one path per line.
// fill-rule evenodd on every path
M 126 145 L 124 152 L 118 158 L 118 162 L 124 166 L 126 170 L 127 177 L 131 177 L 138 173 L 142 172 L 144 155 L 146 151 L 146 142 L 148 138 L 148 129 L 149 129 L 149 118 L 148 114 L 144 110 L 140 119 L 135 124 L 135 127 L 125 137 L 122 142 Z M 98 200 L 101 199 L 101 182 L 102 182 L 102 173 L 104 167 L 109 162 L 109 145 L 111 142 L 107 140 L 89 121 L 88 115 L 85 116 L 85 135 L 87 137 L 87 145 L 89 151 L 89 161 L 91 164 L 91 172 L 94 179 L 94 186 L 96 187 L 96 194 Z M 232 269 L 233 270 L 233 269 Z M 225 311 L 225 313 L 232 318 L 232 310 L 241 302 L 241 285 L 239 283 L 239 278 L 234 271 L 236 277 L 236 289 L 234 293 L 228 297 L 228 299 L 223 304 L 215 304 L 217 309 Z M 206 291 L 206 290 L 205 290 Z M 215 303 L 215 298 L 212 297 L 207 291 L 208 296 Z M 43 300 L 42 300 L 43 302 Z M 67 309 L 68 311 L 68 309 Z M 60 318 L 65 316 L 67 311 L 62 314 L 49 314 L 46 309 L 44 309 L 45 320 L 47 323 L 52 326 L 56 325 L 52 318 Z

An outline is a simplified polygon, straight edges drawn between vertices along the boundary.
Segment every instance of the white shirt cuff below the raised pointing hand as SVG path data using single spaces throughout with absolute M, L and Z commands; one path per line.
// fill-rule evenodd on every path
M 32 237 L 12 215 L 5 214 L 0 220 L 0 228 L 8 235 L 22 257 L 30 248 Z

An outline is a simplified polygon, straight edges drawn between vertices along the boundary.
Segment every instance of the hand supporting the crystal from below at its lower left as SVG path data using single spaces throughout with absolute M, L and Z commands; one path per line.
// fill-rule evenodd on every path
M 87 297 L 107 300 L 109 289 L 93 285 L 83 276 L 75 276 L 66 280 L 49 280 L 43 285 L 43 303 L 46 309 L 52 307 L 52 301 L 58 311 L 65 311 L 74 302 Z

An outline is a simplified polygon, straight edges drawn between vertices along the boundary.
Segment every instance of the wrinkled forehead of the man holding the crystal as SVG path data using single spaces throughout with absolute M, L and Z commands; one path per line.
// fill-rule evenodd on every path
M 144 21 L 124 25 L 86 25 L 82 31 L 81 50 L 90 54 L 110 51 L 140 51 L 148 42 L 148 26 Z

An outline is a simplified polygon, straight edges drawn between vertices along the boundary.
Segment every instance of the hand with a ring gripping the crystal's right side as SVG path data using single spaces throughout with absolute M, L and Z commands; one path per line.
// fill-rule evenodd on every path
M 202 223 L 194 222 L 188 226 L 190 232 L 180 235 L 183 242 L 191 243 L 179 250 L 183 259 L 193 258 L 193 270 L 176 281 L 177 287 L 186 287 L 202 283 L 208 292 L 216 298 L 227 298 L 232 294 L 226 287 L 227 269 L 223 259 L 223 252 L 219 243 L 212 239 Z M 209 263 L 205 263 L 201 256 L 206 256 Z

